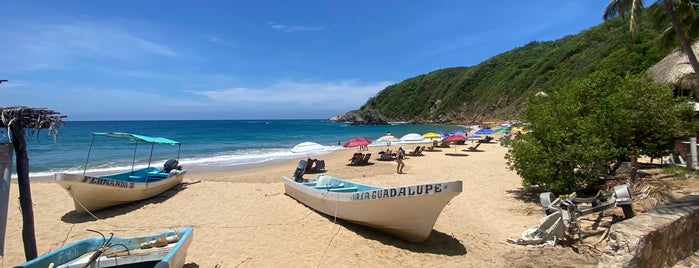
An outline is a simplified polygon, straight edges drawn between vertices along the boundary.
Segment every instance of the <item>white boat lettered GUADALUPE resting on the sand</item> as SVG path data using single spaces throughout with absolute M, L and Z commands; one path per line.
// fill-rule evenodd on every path
M 282 177 L 287 195 L 323 214 L 422 242 L 439 214 L 462 191 L 461 181 L 377 187 L 318 175 L 300 183 Z

